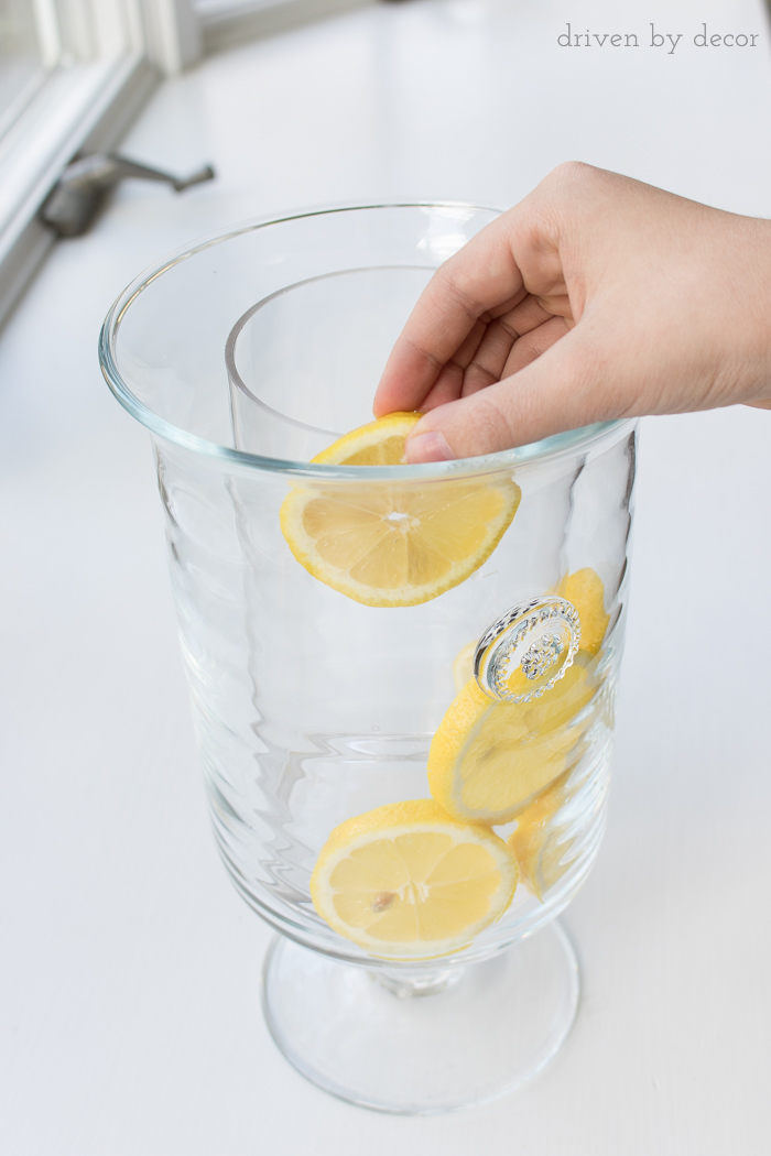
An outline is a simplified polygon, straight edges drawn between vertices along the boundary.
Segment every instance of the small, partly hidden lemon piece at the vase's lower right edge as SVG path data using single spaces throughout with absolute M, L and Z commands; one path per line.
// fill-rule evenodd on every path
M 561 776 L 519 815 L 517 829 L 509 839 L 520 879 L 533 895 L 543 902 L 570 867 L 571 839 L 561 839 L 556 815 L 566 799 L 566 775 Z

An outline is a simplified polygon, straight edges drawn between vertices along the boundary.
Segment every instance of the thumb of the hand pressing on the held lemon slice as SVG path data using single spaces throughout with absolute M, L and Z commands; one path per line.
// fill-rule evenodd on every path
M 474 458 L 563 430 L 629 416 L 606 360 L 578 327 L 525 369 L 429 410 L 407 439 L 409 462 Z

